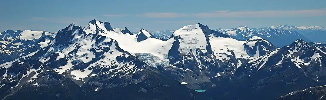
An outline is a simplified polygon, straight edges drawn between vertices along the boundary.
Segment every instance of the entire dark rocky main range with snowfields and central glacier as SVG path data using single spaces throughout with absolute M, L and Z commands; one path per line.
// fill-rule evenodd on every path
M 28 49 L 23 53 L 10 48 L 16 42 L 7 42 L 25 40 L 23 32 L 2 40 L 7 44 L 1 45 L 1 57 L 12 60 L 0 65 L 0 98 L 247 100 L 278 88 L 271 84 L 289 86 L 266 96 L 276 99 L 324 84 L 325 47 L 303 40 L 277 48 L 258 36 L 239 41 L 200 23 L 161 39 L 145 29 L 131 34 L 96 20 L 43 33 L 31 31 L 34 45 L 18 45 Z M 194 91 L 200 89 L 207 92 Z

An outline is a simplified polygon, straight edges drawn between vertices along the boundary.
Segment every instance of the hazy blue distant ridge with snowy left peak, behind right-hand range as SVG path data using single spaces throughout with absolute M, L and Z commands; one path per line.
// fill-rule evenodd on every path
M 254 29 L 250 29 L 246 26 L 239 26 L 238 28 L 232 29 L 217 30 L 221 33 L 228 34 L 229 36 L 237 40 L 246 40 L 252 36 L 259 36 L 272 42 L 276 47 L 283 47 L 289 45 L 297 39 L 303 39 L 304 41 L 311 42 L 310 39 L 307 39 L 300 33 L 292 30 L 268 28 L 257 31 Z

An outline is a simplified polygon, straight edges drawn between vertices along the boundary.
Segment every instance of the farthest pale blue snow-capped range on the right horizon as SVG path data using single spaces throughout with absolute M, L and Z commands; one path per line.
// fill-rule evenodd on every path
M 326 43 L 326 28 L 322 26 L 293 26 L 293 25 L 278 25 L 259 28 L 258 30 L 279 29 L 296 31 L 304 37 L 314 40 L 315 42 Z

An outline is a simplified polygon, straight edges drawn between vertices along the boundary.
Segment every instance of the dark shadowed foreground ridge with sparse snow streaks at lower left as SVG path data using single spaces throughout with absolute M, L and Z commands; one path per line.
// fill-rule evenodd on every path
M 129 85 L 124 85 L 123 87 L 110 89 L 106 86 L 110 87 L 116 84 L 101 84 L 101 82 L 108 81 L 107 79 L 111 75 L 95 76 L 95 78 L 89 79 L 85 85 L 80 87 L 70 80 L 69 77 L 65 78 L 65 76 L 57 74 L 38 60 L 31 59 L 1 64 L 0 76 L 0 98 L 5 100 L 20 100 L 22 98 L 39 100 L 45 97 L 49 97 L 48 100 L 90 100 L 103 98 L 104 100 L 131 100 L 135 98 L 142 100 L 164 100 L 166 98 L 196 100 L 201 98 L 197 92 L 189 90 L 179 82 L 160 75 L 156 70 L 147 69 L 142 72 L 136 72 L 129 79 L 138 81 L 130 82 Z M 116 82 L 127 81 L 121 79 L 111 78 L 109 80 L 115 80 Z M 172 89 L 175 90 L 171 91 Z M 116 90 L 119 90 L 119 92 L 116 92 Z

